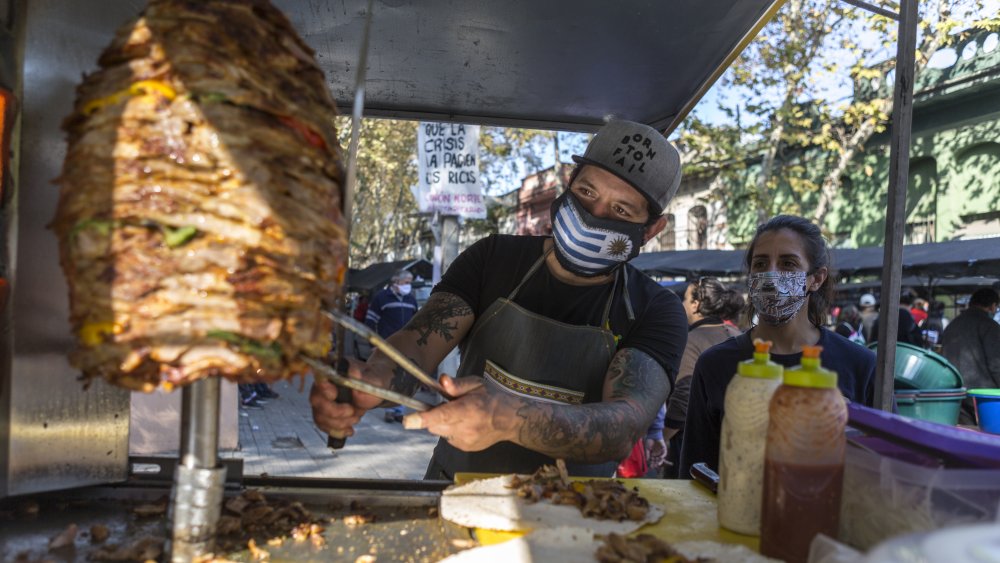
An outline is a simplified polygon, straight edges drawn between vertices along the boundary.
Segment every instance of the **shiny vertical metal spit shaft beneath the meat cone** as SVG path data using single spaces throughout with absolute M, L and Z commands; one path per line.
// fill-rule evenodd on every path
M 219 465 L 219 378 L 181 391 L 181 452 L 170 494 L 173 562 L 192 561 L 215 549 L 226 468 Z

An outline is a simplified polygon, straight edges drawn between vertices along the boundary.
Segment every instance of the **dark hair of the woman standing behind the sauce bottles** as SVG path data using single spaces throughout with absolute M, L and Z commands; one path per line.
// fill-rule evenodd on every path
M 830 251 L 827 249 L 826 240 L 819 227 L 809 222 L 809 220 L 795 215 L 778 215 L 770 221 L 757 227 L 757 232 L 747 247 L 744 266 L 747 273 L 750 272 L 750 264 L 753 261 L 753 249 L 757 245 L 757 240 L 764 233 L 788 229 L 799 235 L 802 244 L 805 246 L 806 259 L 809 260 L 809 270 L 807 274 L 812 274 L 816 270 L 826 267 L 827 276 L 823 285 L 809 295 L 809 321 L 817 327 L 826 324 L 826 311 L 830 307 L 830 300 L 833 297 L 833 271 L 830 265 Z M 747 306 L 748 319 L 753 319 L 754 308 L 751 301 Z

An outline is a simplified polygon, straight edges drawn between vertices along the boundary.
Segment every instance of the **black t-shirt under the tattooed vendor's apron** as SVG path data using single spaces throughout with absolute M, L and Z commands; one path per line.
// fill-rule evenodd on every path
M 462 298 L 478 318 L 498 298 L 506 298 L 544 252 L 548 237 L 491 235 L 462 252 L 432 293 Z M 680 299 L 631 265 L 628 295 L 635 313 L 629 321 L 623 291 L 615 290 L 609 315 L 618 349 L 635 348 L 655 359 L 670 378 L 677 375 L 687 342 L 687 316 Z M 599 326 L 612 283 L 576 286 L 555 278 L 542 264 L 521 287 L 514 302 L 553 320 Z M 553 350 L 554 354 L 569 351 Z

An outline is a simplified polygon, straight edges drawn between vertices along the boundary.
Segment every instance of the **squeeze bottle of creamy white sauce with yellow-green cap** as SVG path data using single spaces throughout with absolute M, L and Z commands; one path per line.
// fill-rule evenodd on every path
M 783 371 L 770 349 L 770 342 L 754 340 L 753 359 L 737 366 L 726 387 L 720 436 L 719 524 L 754 536 L 760 534 L 768 405 Z

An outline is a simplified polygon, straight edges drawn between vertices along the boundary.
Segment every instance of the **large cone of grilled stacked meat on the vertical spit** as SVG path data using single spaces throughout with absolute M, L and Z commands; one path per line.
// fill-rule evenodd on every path
M 274 381 L 329 350 L 335 106 L 267 0 L 151 0 L 77 89 L 52 227 L 84 378 Z

